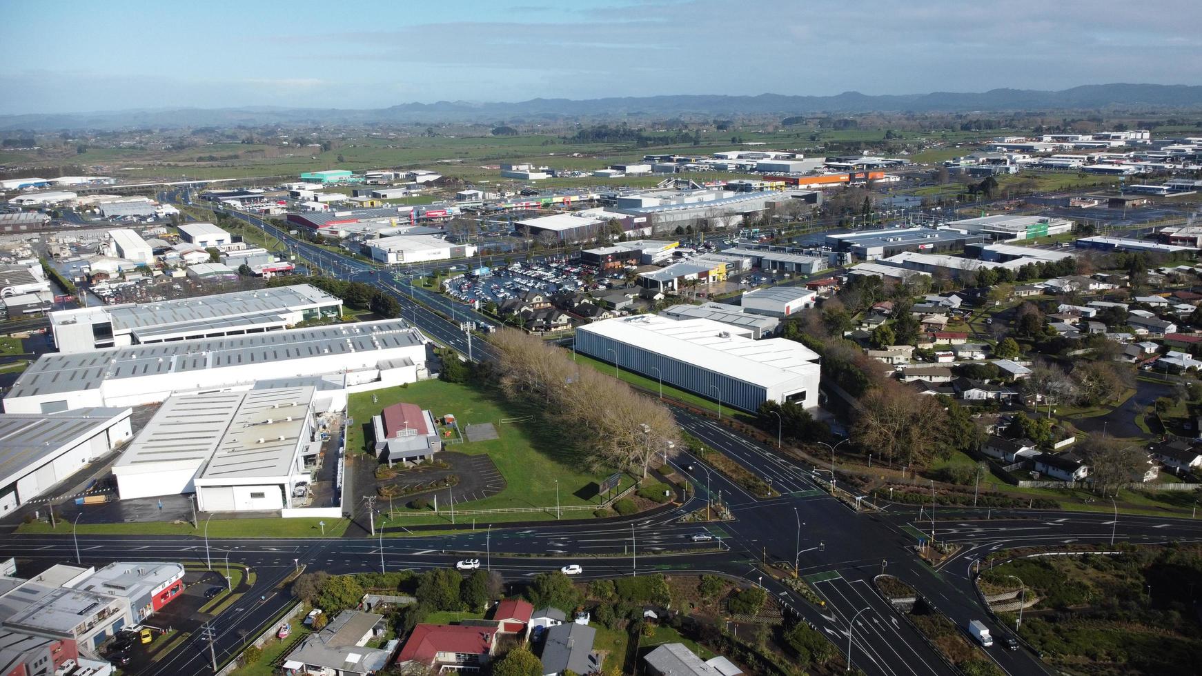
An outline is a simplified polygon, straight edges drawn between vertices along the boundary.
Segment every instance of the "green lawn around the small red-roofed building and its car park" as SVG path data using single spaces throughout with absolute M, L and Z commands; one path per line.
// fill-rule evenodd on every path
M 496 427 L 499 438 L 444 447 L 445 450 L 469 455 L 487 454 L 507 484 L 505 490 L 496 495 L 457 507 L 463 509 L 541 507 L 554 512 L 557 480 L 561 505 L 597 504 L 594 484 L 609 472 L 589 471 L 585 451 L 575 443 L 575 439 L 563 436 L 559 430 L 540 420 L 541 411 L 537 405 L 508 401 L 499 390 L 490 388 L 423 381 L 407 387 L 353 395 L 349 407 L 355 423 L 347 433 L 347 453 L 359 454 L 359 461 L 375 461 L 364 454 L 364 439 L 369 433 L 371 417 L 398 401 L 416 403 L 429 409 L 435 417 L 454 414 L 460 429 L 474 423 L 492 423 Z M 530 417 L 532 418 L 528 420 Z M 632 481 L 633 479 L 624 477 L 623 486 L 629 486 Z M 450 520 L 450 516 L 444 518 L 441 512 L 435 515 L 433 512 L 423 514 L 401 509 L 404 502 L 404 498 L 397 501 L 398 518 L 391 524 L 409 526 L 444 524 Z M 567 514 L 572 518 L 591 516 L 589 510 L 575 510 Z M 508 520 L 553 519 L 554 514 L 532 512 L 510 516 L 512 519 Z M 458 519 L 458 522 L 463 524 L 469 519 L 470 516 Z M 505 520 L 496 515 L 489 515 L 488 519 Z

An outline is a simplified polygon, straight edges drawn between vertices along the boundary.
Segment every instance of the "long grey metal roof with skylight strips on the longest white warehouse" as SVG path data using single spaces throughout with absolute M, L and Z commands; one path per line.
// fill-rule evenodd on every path
M 381 351 L 422 342 L 421 334 L 406 322 L 382 319 L 70 354 L 43 354 L 17 378 L 8 396 L 16 399 L 90 390 L 109 379 L 288 361 L 320 354 Z

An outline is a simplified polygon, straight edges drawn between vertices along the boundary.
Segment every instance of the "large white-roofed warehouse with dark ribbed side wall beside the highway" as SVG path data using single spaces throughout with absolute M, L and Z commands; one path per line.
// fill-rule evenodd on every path
M 742 411 L 767 400 L 817 406 L 819 355 L 796 341 L 751 334 L 712 319 L 638 315 L 578 328 L 576 349 Z

